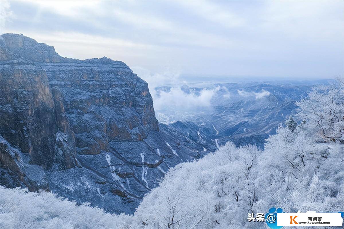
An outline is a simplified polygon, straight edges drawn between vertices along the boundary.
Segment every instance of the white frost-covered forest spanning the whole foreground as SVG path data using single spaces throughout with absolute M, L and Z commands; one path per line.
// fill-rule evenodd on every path
M 134 215 L 0 187 L 0 228 L 266 228 L 248 213 L 344 209 L 344 82 L 313 88 L 264 150 L 227 142 L 178 164 Z

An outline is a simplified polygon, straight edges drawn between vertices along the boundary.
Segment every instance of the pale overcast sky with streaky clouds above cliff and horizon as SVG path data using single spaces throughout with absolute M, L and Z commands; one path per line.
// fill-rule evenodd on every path
M 344 1 L 1 0 L 0 28 L 65 57 L 107 56 L 165 80 L 333 78 L 343 76 L 343 8 Z

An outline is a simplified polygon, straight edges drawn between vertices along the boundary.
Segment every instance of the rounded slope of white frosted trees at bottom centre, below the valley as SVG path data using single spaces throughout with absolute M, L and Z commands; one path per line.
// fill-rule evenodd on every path
M 146 228 L 244 227 L 256 203 L 259 153 L 256 146 L 227 143 L 216 153 L 178 165 L 144 197 L 135 217 Z

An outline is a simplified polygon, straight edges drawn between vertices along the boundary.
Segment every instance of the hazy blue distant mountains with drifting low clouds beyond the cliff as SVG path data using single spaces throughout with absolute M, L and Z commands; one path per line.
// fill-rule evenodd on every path
M 168 96 L 175 88 L 179 88 L 186 97 L 192 95 L 197 98 L 204 90 L 214 93 L 208 106 L 185 111 L 183 107 L 179 109 L 166 104 L 157 110 L 156 115 L 160 122 L 170 123 L 185 135 L 193 133 L 193 139 L 198 139 L 200 144 L 208 145 L 213 141 L 219 146 L 233 141 L 237 146 L 256 144 L 262 148 L 264 140 L 275 134 L 277 127 L 295 112 L 295 101 L 305 98 L 314 85 L 324 83 L 329 83 L 329 80 L 193 83 L 157 87 L 158 98 L 162 92 Z

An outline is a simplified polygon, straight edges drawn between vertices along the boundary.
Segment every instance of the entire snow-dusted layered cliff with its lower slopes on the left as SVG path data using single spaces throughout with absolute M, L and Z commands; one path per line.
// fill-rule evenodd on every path
M 216 149 L 159 127 L 147 83 L 121 61 L 3 34 L 0 68 L 2 185 L 133 213 L 170 167 Z

